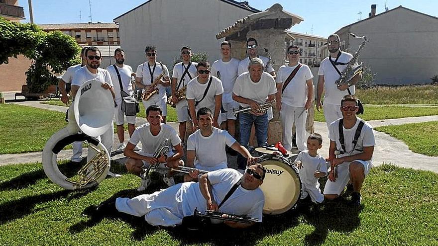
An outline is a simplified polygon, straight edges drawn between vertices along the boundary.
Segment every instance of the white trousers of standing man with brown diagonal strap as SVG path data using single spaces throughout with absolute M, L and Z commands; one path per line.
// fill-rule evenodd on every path
M 306 119 L 307 110 L 304 107 L 292 107 L 285 103 L 281 104 L 281 122 L 283 124 L 283 146 L 286 150 L 292 149 L 292 127 L 295 122 L 295 129 L 297 134 L 297 147 L 299 151 L 307 149 L 307 132 Z M 301 114 L 301 112 L 303 112 Z M 301 115 L 300 115 L 301 114 Z

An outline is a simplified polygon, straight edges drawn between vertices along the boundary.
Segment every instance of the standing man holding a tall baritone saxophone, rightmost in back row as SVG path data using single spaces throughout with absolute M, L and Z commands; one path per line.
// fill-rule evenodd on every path
M 329 57 L 326 57 L 321 62 L 320 70 L 318 71 L 317 109 L 320 111 L 323 105 L 321 97 L 325 91 L 324 117 L 329 127 L 331 122 L 342 117 L 339 102 L 344 95 L 354 95 L 354 84 L 362 79 L 362 74 L 357 74 L 347 84 L 337 86 L 335 82 L 339 79 L 339 73 L 345 70 L 346 65 L 353 56 L 340 50 L 340 38 L 337 34 L 329 36 L 327 45 L 329 47 Z M 355 66 L 358 66 L 357 63 Z M 339 73 L 334 67 L 336 67 Z

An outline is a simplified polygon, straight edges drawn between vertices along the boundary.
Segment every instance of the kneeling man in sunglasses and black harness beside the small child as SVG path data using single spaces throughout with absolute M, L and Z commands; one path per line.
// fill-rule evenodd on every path
M 337 198 L 351 182 L 351 201 L 360 205 L 360 190 L 373 166 L 371 161 L 376 142 L 372 126 L 356 117 L 359 109 L 356 98 L 345 95 L 340 104 L 342 118 L 333 121 L 329 127 L 330 171 L 324 197 L 329 200 Z

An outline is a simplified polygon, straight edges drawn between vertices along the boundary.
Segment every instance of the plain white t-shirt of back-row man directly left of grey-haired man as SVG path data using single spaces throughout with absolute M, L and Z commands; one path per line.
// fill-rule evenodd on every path
M 228 62 L 222 59 L 215 61 L 212 65 L 212 75 L 219 78 L 223 86 L 222 102 L 232 102 L 232 88 L 237 79 L 237 67 L 239 60 L 231 58 Z

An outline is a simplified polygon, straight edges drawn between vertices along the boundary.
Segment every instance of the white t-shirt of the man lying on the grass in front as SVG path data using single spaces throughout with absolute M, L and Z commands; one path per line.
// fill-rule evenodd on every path
M 218 205 L 222 202 L 231 187 L 242 177 L 240 172 L 232 168 L 211 171 L 207 175 L 212 184 L 214 200 Z M 181 186 L 182 191 L 177 193 L 177 199 L 182 199 L 183 201 L 182 210 L 184 216 L 193 215 L 195 207 L 197 207 L 199 211 L 205 211 L 207 202 L 201 194 L 199 182 L 186 182 L 184 184 Z M 181 194 L 181 197 L 179 197 L 179 194 Z M 222 206 L 220 206 L 219 211 L 246 215 L 256 218 L 261 222 L 264 203 L 265 197 L 259 187 L 255 190 L 247 190 L 239 185 Z

